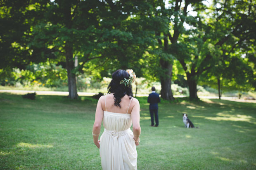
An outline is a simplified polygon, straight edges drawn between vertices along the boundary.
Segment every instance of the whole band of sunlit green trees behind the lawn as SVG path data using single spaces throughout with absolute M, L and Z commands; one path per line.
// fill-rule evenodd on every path
M 132 68 L 168 100 L 172 81 L 191 99 L 198 84 L 254 91 L 255 28 L 255 0 L 2 0 L 0 83 L 63 84 L 77 98 Z

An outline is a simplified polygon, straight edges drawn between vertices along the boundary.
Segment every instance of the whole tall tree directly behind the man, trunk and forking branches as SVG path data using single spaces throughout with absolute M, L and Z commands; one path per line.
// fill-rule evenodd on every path
M 189 17 L 187 8 L 200 2 L 201 0 L 171 0 L 168 3 L 151 1 L 152 9 L 147 15 L 154 23 L 152 29 L 158 42 L 153 54 L 160 69 L 156 69 L 155 75 L 158 75 L 161 82 L 161 97 L 164 99 L 174 100 L 171 91 L 173 59 L 178 54 L 176 48 L 179 38 L 184 34 L 183 24 Z

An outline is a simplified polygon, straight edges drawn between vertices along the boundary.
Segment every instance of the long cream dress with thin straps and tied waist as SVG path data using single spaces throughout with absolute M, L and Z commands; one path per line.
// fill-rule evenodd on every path
M 130 102 L 132 99 L 130 100 Z M 106 107 L 106 96 L 105 96 Z M 128 106 L 128 109 L 130 104 Z M 137 151 L 130 130 L 130 114 L 104 111 L 104 132 L 100 137 L 100 157 L 103 170 L 137 170 Z

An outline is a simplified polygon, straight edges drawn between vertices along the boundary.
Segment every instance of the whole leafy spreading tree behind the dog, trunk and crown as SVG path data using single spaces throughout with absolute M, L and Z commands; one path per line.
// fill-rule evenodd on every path
M 197 16 L 187 18 L 189 33 L 183 35 L 182 42 L 176 47 L 179 49 L 176 57 L 187 75 L 191 99 L 198 98 L 197 82 L 204 72 L 213 71 L 219 62 L 228 62 L 228 57 L 234 56 L 232 54 L 239 52 L 241 56 L 242 51 L 251 51 L 250 47 L 255 43 L 252 2 L 214 1 L 209 7 L 199 4 L 193 9 Z M 234 49 L 238 51 L 234 52 Z M 216 74 L 220 81 L 220 72 Z

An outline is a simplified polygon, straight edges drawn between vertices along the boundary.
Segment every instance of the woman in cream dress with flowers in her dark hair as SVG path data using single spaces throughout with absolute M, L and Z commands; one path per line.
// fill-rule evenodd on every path
M 140 103 L 132 97 L 131 84 L 135 78 L 133 70 L 115 71 L 108 94 L 98 101 L 92 135 L 100 149 L 103 170 L 137 170 Z M 98 140 L 102 121 L 105 129 Z M 132 124 L 133 131 L 130 130 Z

